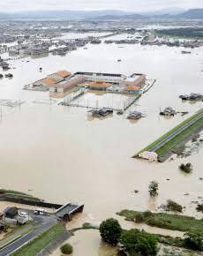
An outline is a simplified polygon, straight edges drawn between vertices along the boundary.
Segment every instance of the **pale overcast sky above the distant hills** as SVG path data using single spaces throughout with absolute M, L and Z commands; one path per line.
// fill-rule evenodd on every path
M 0 12 L 104 9 L 139 12 L 169 7 L 203 8 L 203 0 L 0 0 Z

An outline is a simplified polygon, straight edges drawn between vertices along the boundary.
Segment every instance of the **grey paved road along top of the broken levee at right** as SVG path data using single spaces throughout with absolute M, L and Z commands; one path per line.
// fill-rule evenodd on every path
M 177 131 L 172 132 L 171 134 L 169 134 L 169 136 L 165 139 L 162 139 L 162 141 L 160 141 L 159 143 L 157 143 L 154 147 L 152 147 L 149 151 L 150 152 L 154 152 L 157 149 L 159 149 L 160 147 L 164 146 L 170 139 L 173 139 L 177 136 L 177 134 L 179 134 L 180 132 L 183 132 L 186 128 L 188 128 L 189 126 L 191 126 L 192 124 L 194 124 L 196 121 L 199 120 L 199 118 L 203 117 L 203 112 L 199 113 L 199 115 L 197 115 L 196 117 L 192 118 L 192 120 L 190 120 L 188 123 L 184 124 L 182 127 L 180 127 L 179 129 L 177 129 Z

